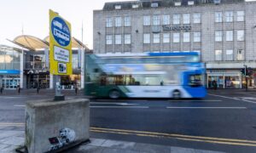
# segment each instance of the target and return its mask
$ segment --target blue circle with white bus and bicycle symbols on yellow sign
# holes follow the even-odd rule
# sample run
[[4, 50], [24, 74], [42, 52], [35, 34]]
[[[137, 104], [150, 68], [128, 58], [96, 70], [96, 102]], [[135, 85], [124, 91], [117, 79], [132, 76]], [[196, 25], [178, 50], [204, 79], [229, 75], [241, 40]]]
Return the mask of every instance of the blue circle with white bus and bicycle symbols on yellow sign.
[[51, 22], [51, 31], [55, 37], [55, 41], [61, 46], [66, 47], [70, 43], [70, 31], [64, 20], [55, 17]]

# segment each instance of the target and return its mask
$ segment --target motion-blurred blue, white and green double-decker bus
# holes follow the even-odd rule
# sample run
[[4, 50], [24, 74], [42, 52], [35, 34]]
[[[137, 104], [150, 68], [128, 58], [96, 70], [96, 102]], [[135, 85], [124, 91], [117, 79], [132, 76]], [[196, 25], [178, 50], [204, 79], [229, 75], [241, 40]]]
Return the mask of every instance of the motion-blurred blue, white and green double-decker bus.
[[200, 54], [86, 54], [85, 95], [119, 98], [204, 98]]

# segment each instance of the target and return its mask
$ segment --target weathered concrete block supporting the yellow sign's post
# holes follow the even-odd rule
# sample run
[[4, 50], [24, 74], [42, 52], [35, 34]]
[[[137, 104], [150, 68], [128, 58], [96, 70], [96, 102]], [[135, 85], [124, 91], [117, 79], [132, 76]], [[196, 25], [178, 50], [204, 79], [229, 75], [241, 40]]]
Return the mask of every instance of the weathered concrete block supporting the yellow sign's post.
[[26, 148], [29, 153], [61, 150], [88, 140], [89, 99], [34, 100], [26, 103]]

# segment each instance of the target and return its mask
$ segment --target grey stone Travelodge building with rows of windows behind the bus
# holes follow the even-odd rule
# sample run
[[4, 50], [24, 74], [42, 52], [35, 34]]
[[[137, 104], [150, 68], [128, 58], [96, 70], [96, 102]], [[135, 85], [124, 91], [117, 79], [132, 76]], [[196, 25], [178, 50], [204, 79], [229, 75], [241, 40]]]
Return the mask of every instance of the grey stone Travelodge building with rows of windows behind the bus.
[[[105, 3], [94, 11], [94, 53], [201, 53], [207, 87], [243, 88], [256, 68], [256, 2], [160, 0]], [[254, 40], [255, 39], [255, 40]], [[254, 87], [255, 74], [247, 85]]]

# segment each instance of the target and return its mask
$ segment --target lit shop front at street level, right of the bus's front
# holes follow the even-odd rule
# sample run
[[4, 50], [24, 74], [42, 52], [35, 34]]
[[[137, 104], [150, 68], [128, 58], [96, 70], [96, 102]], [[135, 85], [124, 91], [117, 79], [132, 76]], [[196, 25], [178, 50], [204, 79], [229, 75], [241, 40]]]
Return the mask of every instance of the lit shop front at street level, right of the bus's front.
[[240, 70], [207, 70], [207, 88], [241, 88]]

